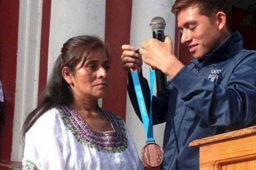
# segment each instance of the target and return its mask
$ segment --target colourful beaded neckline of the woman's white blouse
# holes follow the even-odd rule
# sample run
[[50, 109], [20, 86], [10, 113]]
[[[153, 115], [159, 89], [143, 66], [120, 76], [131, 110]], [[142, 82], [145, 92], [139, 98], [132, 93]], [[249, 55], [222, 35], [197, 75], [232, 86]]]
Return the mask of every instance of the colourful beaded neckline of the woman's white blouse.
[[128, 147], [125, 126], [122, 119], [113, 113], [101, 109], [112, 125], [112, 131], [92, 130], [83, 117], [71, 106], [59, 106], [65, 126], [82, 145], [95, 148], [104, 153], [120, 153]]

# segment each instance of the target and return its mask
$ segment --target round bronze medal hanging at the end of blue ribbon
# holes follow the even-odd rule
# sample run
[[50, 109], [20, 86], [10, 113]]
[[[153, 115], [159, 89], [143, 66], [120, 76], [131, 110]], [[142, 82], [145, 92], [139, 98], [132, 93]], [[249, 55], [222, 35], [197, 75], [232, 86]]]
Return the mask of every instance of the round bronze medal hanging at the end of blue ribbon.
[[142, 148], [141, 157], [143, 163], [149, 167], [159, 167], [163, 162], [163, 150], [156, 143], [148, 143]]

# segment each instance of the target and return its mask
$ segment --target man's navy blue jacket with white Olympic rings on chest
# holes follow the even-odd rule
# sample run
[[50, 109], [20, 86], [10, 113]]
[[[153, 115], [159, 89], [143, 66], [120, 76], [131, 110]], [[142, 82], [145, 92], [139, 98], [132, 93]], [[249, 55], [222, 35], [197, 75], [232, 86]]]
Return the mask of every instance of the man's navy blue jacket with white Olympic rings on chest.
[[[168, 91], [153, 97], [154, 124], [166, 122], [163, 169], [199, 169], [199, 149], [193, 140], [252, 126], [256, 118], [256, 51], [244, 50], [239, 32], [202, 60], [168, 82]], [[128, 94], [140, 116], [131, 76]], [[149, 110], [149, 86], [140, 75]]]

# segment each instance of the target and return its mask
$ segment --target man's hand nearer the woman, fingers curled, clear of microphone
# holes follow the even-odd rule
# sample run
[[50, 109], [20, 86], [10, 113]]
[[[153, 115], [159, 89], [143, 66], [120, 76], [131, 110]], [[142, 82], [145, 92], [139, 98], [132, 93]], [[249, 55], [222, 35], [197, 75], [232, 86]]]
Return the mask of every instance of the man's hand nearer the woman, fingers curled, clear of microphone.
[[137, 69], [137, 71], [140, 72], [142, 67], [142, 58], [139, 53], [134, 52], [134, 46], [122, 45], [122, 50], [122, 68], [128, 72], [130, 69]]

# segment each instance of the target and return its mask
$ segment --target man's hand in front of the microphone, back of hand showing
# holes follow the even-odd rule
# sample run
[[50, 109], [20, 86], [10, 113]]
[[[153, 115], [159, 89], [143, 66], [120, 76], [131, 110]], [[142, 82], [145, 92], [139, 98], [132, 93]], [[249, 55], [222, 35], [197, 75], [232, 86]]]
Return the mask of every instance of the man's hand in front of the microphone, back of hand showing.
[[166, 36], [164, 42], [154, 38], [142, 42], [140, 54], [146, 64], [159, 69], [170, 78], [173, 78], [184, 66], [174, 56], [173, 43], [169, 36]]

